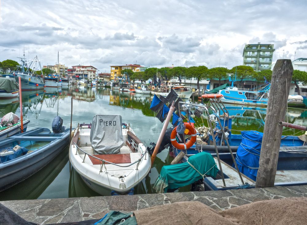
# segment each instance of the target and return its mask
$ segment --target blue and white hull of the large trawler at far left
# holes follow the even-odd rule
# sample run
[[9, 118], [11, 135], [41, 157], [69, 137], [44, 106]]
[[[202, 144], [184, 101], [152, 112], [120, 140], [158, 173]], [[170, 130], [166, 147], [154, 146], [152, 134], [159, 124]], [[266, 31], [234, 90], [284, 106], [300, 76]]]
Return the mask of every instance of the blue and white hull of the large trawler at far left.
[[[16, 83], [19, 84], [19, 76], [16, 74], [14, 75], [4, 75], [9, 76], [10, 78], [14, 78]], [[29, 75], [20, 75], [21, 77], [21, 90], [22, 91], [35, 91], [44, 89], [45, 83], [42, 81], [40, 77], [33, 77]]]

